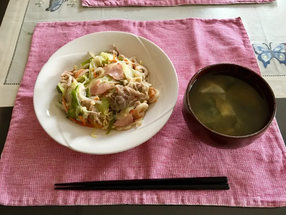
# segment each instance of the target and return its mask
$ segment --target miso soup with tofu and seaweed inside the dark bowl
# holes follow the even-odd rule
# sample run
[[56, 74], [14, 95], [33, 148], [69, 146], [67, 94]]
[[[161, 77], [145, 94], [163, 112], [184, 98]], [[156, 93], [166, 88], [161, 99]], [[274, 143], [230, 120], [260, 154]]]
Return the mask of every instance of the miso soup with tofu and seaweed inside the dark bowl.
[[235, 73], [212, 72], [199, 77], [189, 91], [189, 102], [200, 122], [224, 135], [253, 134], [269, 118], [262, 92]]

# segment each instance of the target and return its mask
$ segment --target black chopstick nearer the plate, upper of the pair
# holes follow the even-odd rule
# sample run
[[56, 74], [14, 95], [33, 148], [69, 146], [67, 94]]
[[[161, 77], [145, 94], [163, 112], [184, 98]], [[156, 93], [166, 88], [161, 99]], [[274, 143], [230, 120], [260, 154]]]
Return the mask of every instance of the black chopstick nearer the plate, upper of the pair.
[[121, 186], [121, 185], [192, 185], [192, 184], [223, 184], [227, 177], [198, 177], [198, 178], [164, 178], [164, 179], [135, 179], [115, 181], [90, 181], [58, 183], [55, 186]]

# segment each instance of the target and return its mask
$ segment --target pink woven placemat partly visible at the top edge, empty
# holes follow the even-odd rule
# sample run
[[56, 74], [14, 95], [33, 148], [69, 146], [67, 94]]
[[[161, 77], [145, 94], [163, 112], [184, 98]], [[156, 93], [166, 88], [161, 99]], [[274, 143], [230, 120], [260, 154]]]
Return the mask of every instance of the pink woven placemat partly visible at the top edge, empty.
[[183, 4], [270, 3], [277, 0], [81, 0], [87, 7], [175, 6]]

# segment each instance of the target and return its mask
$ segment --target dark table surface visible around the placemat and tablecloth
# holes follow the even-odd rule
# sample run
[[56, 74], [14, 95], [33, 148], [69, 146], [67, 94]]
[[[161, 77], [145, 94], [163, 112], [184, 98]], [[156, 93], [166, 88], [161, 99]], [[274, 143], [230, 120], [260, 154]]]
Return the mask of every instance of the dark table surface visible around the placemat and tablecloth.
[[[3, 19], [9, 0], [1, 0], [0, 23]], [[286, 98], [277, 99], [276, 120], [284, 142], [286, 140]], [[13, 107], [0, 108], [0, 153], [2, 153], [9, 130]], [[283, 208], [239, 208], [224, 206], [198, 205], [98, 205], [98, 206], [2, 206], [1, 214], [286, 214]]]

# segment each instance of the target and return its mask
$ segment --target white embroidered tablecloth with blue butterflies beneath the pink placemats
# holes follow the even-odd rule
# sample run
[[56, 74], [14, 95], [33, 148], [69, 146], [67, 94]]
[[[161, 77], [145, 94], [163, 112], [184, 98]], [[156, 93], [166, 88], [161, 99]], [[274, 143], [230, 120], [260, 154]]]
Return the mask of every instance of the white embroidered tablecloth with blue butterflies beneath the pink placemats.
[[[269, 4], [182, 5], [176, 7], [83, 7], [80, 0], [10, 0], [0, 27], [0, 107], [13, 106], [24, 73], [34, 27], [42, 21], [83, 21], [101, 19], [167, 20], [241, 17], [252, 44], [264, 52], [286, 43], [286, 1]], [[186, 29], [187, 30], [187, 29]], [[64, 35], [63, 35], [64, 36]], [[44, 42], [44, 41], [43, 41]], [[53, 44], [50, 44], [51, 46]], [[214, 44], [215, 45], [215, 44]], [[255, 46], [256, 47], [256, 46]], [[259, 50], [259, 47], [257, 48]], [[206, 55], [207, 56], [207, 55]], [[262, 76], [277, 98], [286, 97], [286, 61], [283, 53], [263, 64]]]

